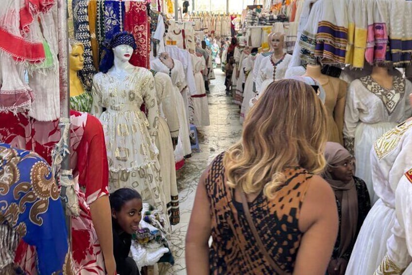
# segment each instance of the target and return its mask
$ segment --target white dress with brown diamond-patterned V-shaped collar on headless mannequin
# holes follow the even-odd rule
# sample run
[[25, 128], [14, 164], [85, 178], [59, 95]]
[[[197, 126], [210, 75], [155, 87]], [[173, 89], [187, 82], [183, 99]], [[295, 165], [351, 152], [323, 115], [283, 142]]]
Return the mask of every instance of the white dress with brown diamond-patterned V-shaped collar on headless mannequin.
[[365, 181], [372, 204], [378, 200], [372, 186], [372, 145], [383, 133], [411, 116], [411, 92], [411, 82], [396, 75], [391, 90], [381, 87], [370, 75], [354, 80], [349, 86], [343, 138], [345, 147], [356, 158], [356, 176]]

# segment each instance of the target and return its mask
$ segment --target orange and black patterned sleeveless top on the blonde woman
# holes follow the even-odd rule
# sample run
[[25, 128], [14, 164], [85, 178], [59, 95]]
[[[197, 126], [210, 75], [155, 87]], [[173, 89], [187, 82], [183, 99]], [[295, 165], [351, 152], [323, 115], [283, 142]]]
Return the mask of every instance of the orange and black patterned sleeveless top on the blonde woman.
[[[205, 180], [213, 238], [210, 274], [276, 274], [259, 252], [234, 189], [225, 184], [223, 155], [213, 161]], [[281, 270], [292, 273], [303, 234], [298, 227], [300, 209], [313, 175], [301, 167], [288, 168], [284, 174], [287, 180], [276, 197], [269, 200], [261, 192], [249, 202], [249, 209], [269, 255]]]

